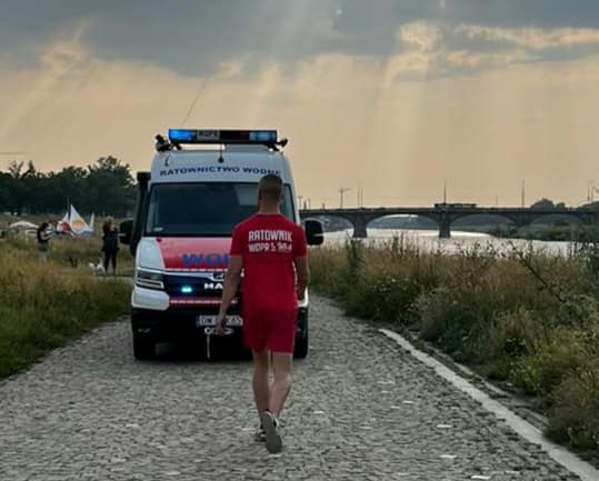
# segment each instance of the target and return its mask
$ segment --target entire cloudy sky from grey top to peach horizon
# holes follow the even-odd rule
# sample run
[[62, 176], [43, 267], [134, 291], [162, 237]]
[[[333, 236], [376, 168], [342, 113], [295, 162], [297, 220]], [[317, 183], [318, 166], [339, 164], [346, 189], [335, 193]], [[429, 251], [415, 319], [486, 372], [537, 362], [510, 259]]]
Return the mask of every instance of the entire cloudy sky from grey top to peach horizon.
[[430, 206], [446, 182], [519, 206], [522, 181], [578, 206], [597, 86], [597, 0], [0, 2], [0, 168], [148, 170], [169, 128], [276, 128], [312, 207]]

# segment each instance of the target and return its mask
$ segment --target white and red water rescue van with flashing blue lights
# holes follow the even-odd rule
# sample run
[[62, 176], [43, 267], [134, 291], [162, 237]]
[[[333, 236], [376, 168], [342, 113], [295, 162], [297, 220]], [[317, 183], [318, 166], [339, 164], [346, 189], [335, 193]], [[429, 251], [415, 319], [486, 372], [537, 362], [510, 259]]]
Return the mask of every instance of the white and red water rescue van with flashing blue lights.
[[[158, 342], [192, 340], [210, 358], [233, 228], [257, 211], [258, 182], [267, 173], [284, 184], [281, 212], [300, 223], [287, 140], [274, 130], [171, 129], [157, 136], [150, 172], [138, 173], [134, 219], [121, 224], [121, 242], [136, 257], [131, 295], [133, 353], [151, 359]], [[196, 146], [186, 148], [183, 146]], [[322, 227], [305, 224], [309, 244]], [[242, 347], [242, 318], [233, 301], [224, 342]], [[296, 351], [308, 353], [308, 294], [300, 302]], [[223, 340], [219, 339], [219, 344]]]

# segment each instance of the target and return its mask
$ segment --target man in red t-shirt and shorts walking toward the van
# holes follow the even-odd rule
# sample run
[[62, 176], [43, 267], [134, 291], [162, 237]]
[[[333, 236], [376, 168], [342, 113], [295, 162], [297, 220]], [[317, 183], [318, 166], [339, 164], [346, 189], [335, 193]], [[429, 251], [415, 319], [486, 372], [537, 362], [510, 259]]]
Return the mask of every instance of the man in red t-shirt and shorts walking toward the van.
[[[258, 213], [236, 227], [224, 280], [217, 330], [227, 325], [226, 313], [243, 270], [243, 340], [253, 355], [253, 397], [260, 414], [259, 437], [269, 452], [282, 449], [279, 415], [291, 389], [291, 364], [298, 300], [308, 285], [308, 257], [303, 229], [281, 214], [283, 184], [264, 176], [258, 187]], [[269, 385], [269, 360], [274, 381]]]

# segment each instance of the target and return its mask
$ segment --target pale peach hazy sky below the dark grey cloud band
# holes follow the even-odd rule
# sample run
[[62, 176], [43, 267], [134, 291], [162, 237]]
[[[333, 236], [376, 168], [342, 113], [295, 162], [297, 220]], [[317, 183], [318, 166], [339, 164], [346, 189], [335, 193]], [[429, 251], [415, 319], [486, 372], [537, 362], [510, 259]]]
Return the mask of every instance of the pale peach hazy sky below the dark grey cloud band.
[[[583, 194], [599, 148], [596, 58], [535, 63], [509, 58], [530, 54], [513, 46], [448, 47], [452, 29], [440, 23], [402, 27], [386, 59], [323, 54], [298, 60], [292, 76], [277, 62], [248, 76], [248, 59], [232, 57], [208, 78], [99, 58], [80, 27], [38, 52], [40, 68], [0, 67], [2, 120], [12, 119], [0, 141], [42, 170], [109, 153], [146, 170], [153, 134], [180, 126], [201, 88], [187, 126], [278, 128], [312, 204], [358, 182], [372, 206], [432, 204], [446, 178], [456, 201], [517, 203], [522, 178], [535, 197]], [[396, 81], [439, 71], [479, 73]]]

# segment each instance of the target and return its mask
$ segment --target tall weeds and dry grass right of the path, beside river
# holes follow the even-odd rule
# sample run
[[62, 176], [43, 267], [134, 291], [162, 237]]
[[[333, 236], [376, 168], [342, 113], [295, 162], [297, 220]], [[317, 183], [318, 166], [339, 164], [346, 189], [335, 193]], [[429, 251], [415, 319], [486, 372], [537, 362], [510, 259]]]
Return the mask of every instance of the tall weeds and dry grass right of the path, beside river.
[[448, 254], [396, 238], [315, 249], [311, 269], [315, 288], [349, 314], [417, 331], [533, 397], [551, 439], [599, 451], [599, 255], [572, 252], [475, 245]]

